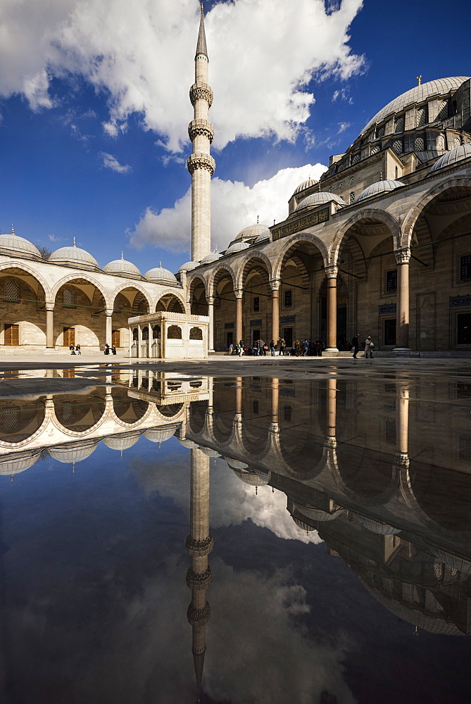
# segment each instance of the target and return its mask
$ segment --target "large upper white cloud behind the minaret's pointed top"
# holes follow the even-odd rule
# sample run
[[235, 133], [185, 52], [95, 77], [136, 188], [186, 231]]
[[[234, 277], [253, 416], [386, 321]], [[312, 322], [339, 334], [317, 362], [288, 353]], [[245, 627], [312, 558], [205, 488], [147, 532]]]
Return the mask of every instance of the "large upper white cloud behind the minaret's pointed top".
[[[206, 18], [215, 147], [239, 136], [295, 139], [314, 102], [310, 80], [346, 80], [363, 65], [348, 46], [362, 4], [215, 4]], [[196, 0], [4, 0], [0, 94], [23, 94], [33, 110], [51, 108], [52, 78], [79, 75], [107, 96], [108, 135], [117, 137], [139, 113], [145, 130], [180, 151], [191, 118], [198, 11]]]

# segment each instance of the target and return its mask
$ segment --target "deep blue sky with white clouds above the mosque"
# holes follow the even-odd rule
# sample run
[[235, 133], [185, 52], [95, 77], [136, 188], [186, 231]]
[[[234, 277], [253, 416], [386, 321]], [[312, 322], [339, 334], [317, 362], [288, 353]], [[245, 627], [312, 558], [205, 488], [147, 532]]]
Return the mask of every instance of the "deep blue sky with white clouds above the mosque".
[[[471, 75], [469, 0], [207, 0], [212, 246], [287, 201], [397, 95]], [[189, 260], [197, 0], [0, 1], [0, 232], [142, 273]]]

